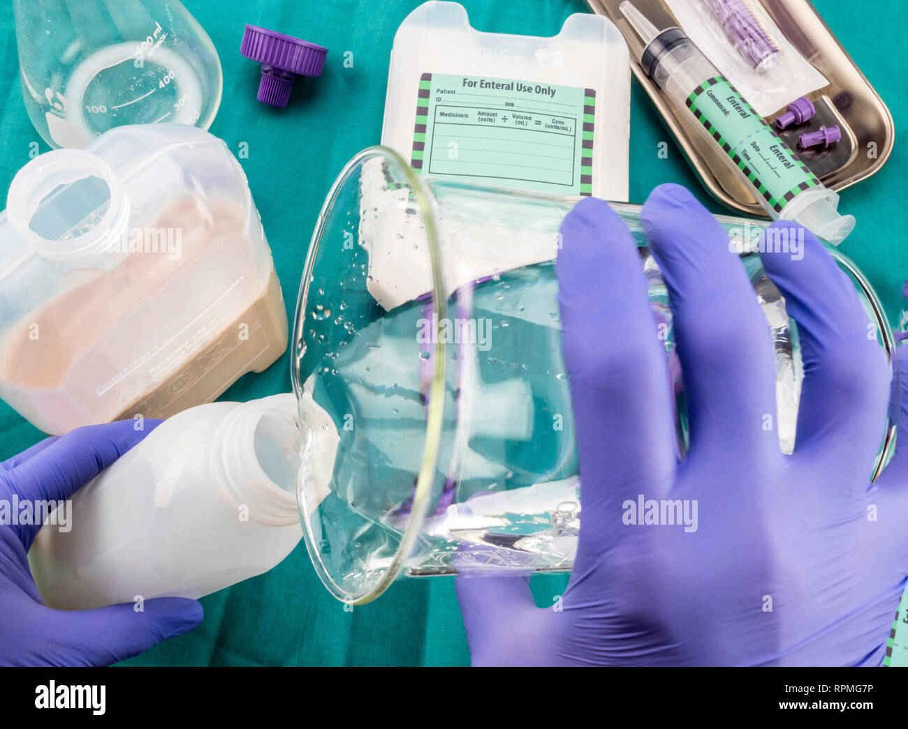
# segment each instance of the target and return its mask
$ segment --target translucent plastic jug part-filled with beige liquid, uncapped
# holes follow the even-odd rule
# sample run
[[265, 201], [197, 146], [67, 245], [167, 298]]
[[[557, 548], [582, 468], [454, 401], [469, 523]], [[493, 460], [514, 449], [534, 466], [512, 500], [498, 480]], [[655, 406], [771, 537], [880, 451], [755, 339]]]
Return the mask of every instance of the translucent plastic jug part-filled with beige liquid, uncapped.
[[15, 176], [0, 214], [0, 397], [38, 428], [211, 402], [287, 335], [246, 177], [208, 132], [118, 127]]

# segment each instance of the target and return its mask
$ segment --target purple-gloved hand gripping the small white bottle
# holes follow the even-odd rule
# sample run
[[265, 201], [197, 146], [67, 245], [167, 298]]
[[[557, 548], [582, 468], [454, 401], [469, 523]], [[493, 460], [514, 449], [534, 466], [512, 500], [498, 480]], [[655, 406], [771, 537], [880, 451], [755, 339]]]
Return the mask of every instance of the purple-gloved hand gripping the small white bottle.
[[[122, 421], [47, 438], [0, 462], [0, 501], [65, 501], [157, 424], [145, 420], [136, 431], [133, 421]], [[78, 521], [77, 513], [71, 517]], [[25, 558], [40, 527], [13, 521], [0, 523], [0, 666], [106, 666], [202, 622], [202, 606], [183, 598], [147, 600], [143, 612], [132, 604], [44, 607]]]

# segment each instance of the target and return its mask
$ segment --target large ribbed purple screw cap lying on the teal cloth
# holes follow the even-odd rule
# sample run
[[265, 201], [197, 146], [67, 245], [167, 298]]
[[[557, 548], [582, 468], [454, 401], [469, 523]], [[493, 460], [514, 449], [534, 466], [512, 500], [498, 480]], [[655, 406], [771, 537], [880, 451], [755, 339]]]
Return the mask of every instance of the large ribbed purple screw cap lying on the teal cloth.
[[256, 98], [283, 109], [290, 101], [297, 76], [321, 76], [328, 49], [247, 23], [240, 53], [262, 63], [262, 82]]

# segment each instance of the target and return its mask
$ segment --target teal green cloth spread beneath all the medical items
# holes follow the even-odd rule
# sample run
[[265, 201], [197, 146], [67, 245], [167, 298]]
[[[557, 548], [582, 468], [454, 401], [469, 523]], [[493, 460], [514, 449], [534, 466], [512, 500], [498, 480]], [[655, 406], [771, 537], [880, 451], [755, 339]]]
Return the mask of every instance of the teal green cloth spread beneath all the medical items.
[[[343, 164], [380, 141], [388, 63], [394, 32], [418, 0], [185, 0], [221, 54], [224, 92], [211, 131], [240, 160], [271, 243], [275, 266], [292, 317], [311, 229], [321, 202]], [[552, 35], [571, 13], [587, 11], [581, 0], [491, 2], [461, 0], [471, 24], [496, 33]], [[908, 114], [903, 73], [893, 61], [908, 26], [908, 5], [817, 0], [825, 22], [888, 103], [896, 129]], [[240, 55], [243, 24], [296, 35], [329, 50], [321, 78], [296, 83], [285, 110], [255, 100], [259, 65]], [[35, 132], [22, 102], [11, 4], [0, 6], [0, 190], [29, 159]], [[668, 141], [668, 156], [659, 142]], [[643, 202], [661, 182], [694, 190], [714, 212], [711, 199], [677, 149], [646, 94], [632, 82], [630, 200]], [[893, 325], [903, 308], [908, 247], [903, 244], [908, 200], [901, 175], [908, 173], [903, 146], [878, 174], [845, 190], [842, 209], [857, 228], [842, 250], [857, 262], [883, 298]], [[0, 204], [0, 207], [2, 204]], [[247, 374], [222, 397], [245, 401], [290, 389], [290, 360], [262, 374]], [[43, 437], [0, 403], [0, 460]], [[539, 605], [552, 605], [565, 577], [534, 579]], [[202, 599], [202, 626], [157, 646], [129, 666], [378, 666], [465, 665], [466, 637], [448, 578], [399, 580], [376, 602], [348, 612], [322, 588], [303, 545], [266, 575]], [[884, 637], [881, 639], [885, 639]]]

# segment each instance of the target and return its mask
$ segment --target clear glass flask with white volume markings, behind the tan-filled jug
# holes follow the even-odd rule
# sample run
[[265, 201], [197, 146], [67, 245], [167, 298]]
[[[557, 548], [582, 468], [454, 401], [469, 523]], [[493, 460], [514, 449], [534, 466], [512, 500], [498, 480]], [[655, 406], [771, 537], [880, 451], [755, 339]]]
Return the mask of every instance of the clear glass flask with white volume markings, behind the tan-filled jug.
[[123, 124], [208, 129], [221, 61], [179, 0], [14, 0], [25, 108], [52, 147]]

